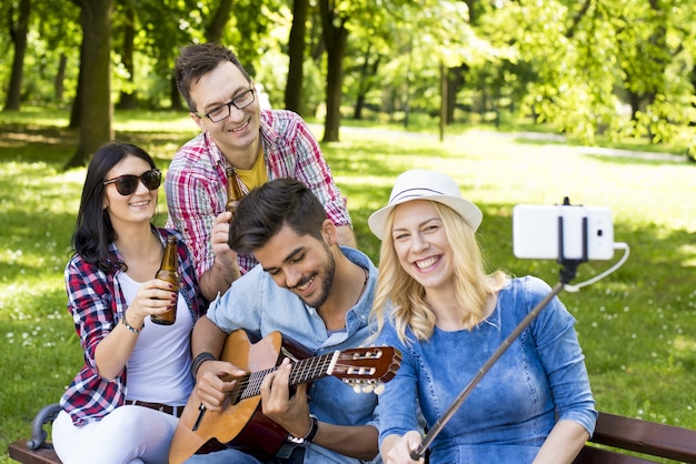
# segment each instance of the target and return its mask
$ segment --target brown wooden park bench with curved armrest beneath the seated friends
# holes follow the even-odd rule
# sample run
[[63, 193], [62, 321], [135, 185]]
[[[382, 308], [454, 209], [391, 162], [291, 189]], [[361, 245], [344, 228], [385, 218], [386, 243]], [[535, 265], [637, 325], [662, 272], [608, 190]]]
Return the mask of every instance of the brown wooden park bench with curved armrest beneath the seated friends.
[[[47, 441], [44, 430], [59, 412], [58, 404], [39, 411], [31, 424], [31, 438], [10, 444], [10, 457], [24, 464], [61, 464]], [[598, 447], [596, 444], [605, 446]], [[696, 431], [599, 413], [595, 434], [574, 464], [654, 463], [649, 461], [650, 456], [696, 463]]]

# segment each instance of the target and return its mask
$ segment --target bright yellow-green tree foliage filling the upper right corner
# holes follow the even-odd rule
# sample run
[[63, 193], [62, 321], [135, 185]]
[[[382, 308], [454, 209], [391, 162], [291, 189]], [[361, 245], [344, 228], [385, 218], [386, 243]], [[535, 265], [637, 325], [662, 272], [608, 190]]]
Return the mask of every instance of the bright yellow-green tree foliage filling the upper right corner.
[[593, 143], [668, 141], [694, 120], [695, 14], [687, 0], [518, 0], [495, 16], [519, 51], [524, 108]]

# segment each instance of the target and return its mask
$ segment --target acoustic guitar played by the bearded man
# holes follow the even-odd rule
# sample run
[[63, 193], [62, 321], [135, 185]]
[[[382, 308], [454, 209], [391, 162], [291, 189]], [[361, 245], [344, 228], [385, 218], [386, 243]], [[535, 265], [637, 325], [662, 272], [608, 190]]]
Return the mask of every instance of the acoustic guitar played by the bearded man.
[[[169, 448], [169, 463], [180, 464], [211, 443], [229, 443], [260, 458], [275, 455], [286, 443], [288, 432], [261, 413], [261, 382], [290, 357], [290, 385], [335, 376], [350, 384], [356, 392], [381, 391], [382, 383], [396, 375], [401, 353], [392, 346], [358, 347], [307, 357], [307, 350], [279, 332], [252, 343], [247, 332], [228, 335], [220, 360], [229, 361], [248, 372], [236, 380], [222, 411], [202, 407], [196, 391], [183, 408]], [[304, 359], [302, 359], [304, 357]]]

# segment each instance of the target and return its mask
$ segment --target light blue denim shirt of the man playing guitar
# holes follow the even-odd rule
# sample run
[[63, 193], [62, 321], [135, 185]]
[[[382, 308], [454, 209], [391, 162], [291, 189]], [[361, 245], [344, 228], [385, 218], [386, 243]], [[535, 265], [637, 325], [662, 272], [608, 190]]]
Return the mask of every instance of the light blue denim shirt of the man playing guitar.
[[[317, 310], [306, 305], [289, 290], [278, 286], [261, 265], [232, 283], [232, 286], [216, 299], [208, 310], [208, 319], [225, 332], [245, 329], [252, 335], [264, 337], [279, 331], [284, 336], [304, 345], [314, 355], [331, 353], [360, 346], [374, 332], [368, 326], [377, 268], [364, 253], [341, 248], [354, 263], [369, 271], [369, 279], [358, 303], [346, 315], [346, 331], [329, 334]], [[374, 425], [379, 428], [375, 412], [377, 396], [374, 393], [356, 393], [341, 380], [328, 376], [314, 381], [309, 393], [309, 411], [321, 422], [338, 425]], [[305, 451], [306, 464], [311, 463], [359, 463], [311, 444]], [[379, 462], [378, 458], [375, 462]]]

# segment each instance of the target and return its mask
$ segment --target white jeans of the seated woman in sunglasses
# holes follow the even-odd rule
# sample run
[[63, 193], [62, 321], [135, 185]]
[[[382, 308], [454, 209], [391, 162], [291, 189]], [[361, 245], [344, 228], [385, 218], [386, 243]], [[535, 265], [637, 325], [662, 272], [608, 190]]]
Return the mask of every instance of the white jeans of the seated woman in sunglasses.
[[170, 414], [126, 405], [99, 422], [78, 427], [61, 411], [51, 437], [63, 464], [167, 464], [178, 422]]

